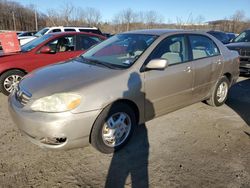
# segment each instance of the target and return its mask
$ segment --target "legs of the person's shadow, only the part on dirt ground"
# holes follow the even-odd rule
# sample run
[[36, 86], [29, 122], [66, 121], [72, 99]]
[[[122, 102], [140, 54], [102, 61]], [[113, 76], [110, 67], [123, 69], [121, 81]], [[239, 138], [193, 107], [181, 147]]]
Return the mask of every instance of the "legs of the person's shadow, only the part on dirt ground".
[[[149, 142], [145, 124], [139, 125], [128, 145], [114, 153], [105, 188], [148, 187]], [[130, 177], [129, 177], [130, 176]]]

